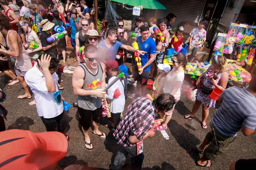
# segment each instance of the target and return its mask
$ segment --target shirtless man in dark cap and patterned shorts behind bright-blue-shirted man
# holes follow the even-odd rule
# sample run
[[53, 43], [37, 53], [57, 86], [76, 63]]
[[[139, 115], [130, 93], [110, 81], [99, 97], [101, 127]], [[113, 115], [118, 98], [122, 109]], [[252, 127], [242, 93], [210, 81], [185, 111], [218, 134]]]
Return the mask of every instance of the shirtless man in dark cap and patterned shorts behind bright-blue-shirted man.
[[[156, 51], [155, 63], [157, 63], [157, 64], [162, 64], [162, 63], [163, 63], [164, 51], [165, 51], [165, 48], [168, 47], [168, 45], [169, 45], [170, 34], [169, 34], [169, 32], [166, 30], [166, 25], [167, 25], [167, 20], [166, 20], [166, 19], [162, 19], [162, 20], [160, 21], [160, 24], [159, 24], [159, 29], [160, 29], [160, 31], [161, 31], [162, 34], [163, 34], [164, 41], [163, 41], [163, 42], [162, 42], [162, 41], [159, 41], [159, 40], [157, 40], [157, 37], [155, 37], [155, 38], [156, 38], [156, 44], [157, 44], [157, 51]], [[149, 76], [149, 78], [153, 78], [154, 67], [155, 67], [155, 64], [152, 63], [152, 64], [151, 64], [151, 69], [150, 69], [150, 76]]]

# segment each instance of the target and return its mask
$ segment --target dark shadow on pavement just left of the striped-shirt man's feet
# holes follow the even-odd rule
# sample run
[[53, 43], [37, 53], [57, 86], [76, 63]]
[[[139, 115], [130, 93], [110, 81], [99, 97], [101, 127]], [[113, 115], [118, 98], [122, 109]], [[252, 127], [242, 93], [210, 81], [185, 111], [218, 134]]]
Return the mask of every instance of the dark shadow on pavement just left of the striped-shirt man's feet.
[[168, 123], [168, 127], [177, 143], [186, 150], [192, 159], [198, 160], [200, 157], [195, 151], [195, 147], [200, 144], [200, 140], [173, 119]]

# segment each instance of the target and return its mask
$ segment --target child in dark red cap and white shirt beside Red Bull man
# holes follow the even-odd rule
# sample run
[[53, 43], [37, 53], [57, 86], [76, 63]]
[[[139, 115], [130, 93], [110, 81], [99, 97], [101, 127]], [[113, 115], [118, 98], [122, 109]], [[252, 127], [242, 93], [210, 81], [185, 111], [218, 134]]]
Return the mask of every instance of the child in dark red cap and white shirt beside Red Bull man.
[[[111, 83], [119, 73], [121, 73], [118, 67], [118, 63], [114, 59], [111, 59], [106, 63], [106, 69], [108, 74], [111, 75], [111, 78], [108, 80], [108, 84]], [[108, 89], [108, 94], [106, 96], [106, 99], [111, 100], [111, 117], [109, 118], [109, 121], [111, 122], [111, 126], [114, 128], [116, 128], [121, 121], [120, 115], [125, 108], [124, 84], [125, 82], [123, 78], [119, 79]]]

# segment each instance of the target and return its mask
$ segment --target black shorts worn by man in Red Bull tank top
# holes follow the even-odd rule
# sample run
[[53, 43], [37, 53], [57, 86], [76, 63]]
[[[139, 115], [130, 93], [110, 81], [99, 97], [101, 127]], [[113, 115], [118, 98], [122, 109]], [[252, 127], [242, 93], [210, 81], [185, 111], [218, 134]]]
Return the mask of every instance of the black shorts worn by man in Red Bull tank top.
[[85, 110], [78, 107], [79, 124], [88, 130], [90, 128], [92, 120], [96, 123], [100, 123], [100, 115], [102, 114], [102, 106], [95, 111]]

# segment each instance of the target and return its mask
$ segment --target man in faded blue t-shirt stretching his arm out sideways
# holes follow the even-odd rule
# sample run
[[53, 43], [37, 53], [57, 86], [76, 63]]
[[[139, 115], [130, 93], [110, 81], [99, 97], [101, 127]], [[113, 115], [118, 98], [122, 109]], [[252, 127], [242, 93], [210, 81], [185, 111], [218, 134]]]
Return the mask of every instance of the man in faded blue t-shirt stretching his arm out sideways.
[[119, 48], [122, 48], [127, 51], [136, 51], [140, 53], [141, 56], [146, 54], [145, 51], [137, 50], [129, 45], [124, 45], [121, 42], [116, 41], [117, 39], [116, 37], [117, 37], [117, 30], [114, 28], [109, 28], [107, 31], [106, 40], [99, 42], [99, 51], [102, 52], [102, 56], [105, 56], [105, 58], [102, 59], [103, 61], [105, 60], [106, 62], [108, 62], [111, 59], [116, 60], [116, 57], [120, 58], [120, 56], [117, 55], [117, 51]]

